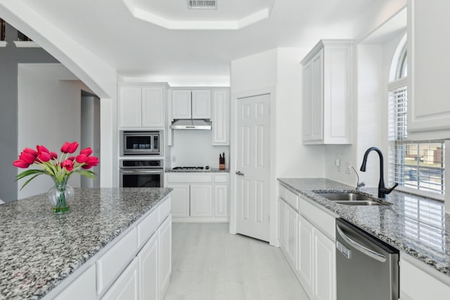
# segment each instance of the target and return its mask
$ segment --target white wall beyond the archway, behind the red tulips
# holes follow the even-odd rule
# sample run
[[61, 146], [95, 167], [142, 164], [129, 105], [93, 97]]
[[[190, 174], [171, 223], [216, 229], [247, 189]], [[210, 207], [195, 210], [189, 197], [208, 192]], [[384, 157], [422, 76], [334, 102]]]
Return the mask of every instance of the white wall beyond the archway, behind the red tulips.
[[[44, 145], [59, 155], [65, 141], [80, 141], [81, 90], [90, 90], [73, 79], [76, 77], [60, 64], [18, 65], [19, 151]], [[79, 187], [79, 174], [71, 176], [69, 184]], [[18, 199], [46, 193], [52, 185], [49, 176], [38, 176], [18, 192]]]

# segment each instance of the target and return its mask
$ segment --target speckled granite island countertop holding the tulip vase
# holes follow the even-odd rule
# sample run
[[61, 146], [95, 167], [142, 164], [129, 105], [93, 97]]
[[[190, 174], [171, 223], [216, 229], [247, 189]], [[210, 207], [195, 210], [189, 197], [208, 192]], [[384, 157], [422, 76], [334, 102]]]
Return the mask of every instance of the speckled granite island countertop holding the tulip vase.
[[46, 194], [0, 205], [0, 299], [40, 299], [172, 188], [75, 188], [68, 214]]

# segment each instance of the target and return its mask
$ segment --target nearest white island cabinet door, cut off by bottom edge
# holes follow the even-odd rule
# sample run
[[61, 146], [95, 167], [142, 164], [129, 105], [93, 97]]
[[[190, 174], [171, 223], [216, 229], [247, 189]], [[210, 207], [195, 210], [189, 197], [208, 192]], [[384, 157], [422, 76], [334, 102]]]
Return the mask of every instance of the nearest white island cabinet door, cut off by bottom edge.
[[139, 289], [138, 289], [138, 259], [135, 258], [127, 266], [119, 278], [113, 283], [113, 285], [108, 289], [103, 300], [133, 300], [139, 299]]

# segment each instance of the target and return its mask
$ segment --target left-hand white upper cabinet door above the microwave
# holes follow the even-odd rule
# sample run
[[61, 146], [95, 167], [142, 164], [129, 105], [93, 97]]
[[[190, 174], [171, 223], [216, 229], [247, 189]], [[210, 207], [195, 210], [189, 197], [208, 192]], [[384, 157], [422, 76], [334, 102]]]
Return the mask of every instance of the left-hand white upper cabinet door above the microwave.
[[119, 88], [119, 126], [141, 126], [141, 87], [120, 86]]

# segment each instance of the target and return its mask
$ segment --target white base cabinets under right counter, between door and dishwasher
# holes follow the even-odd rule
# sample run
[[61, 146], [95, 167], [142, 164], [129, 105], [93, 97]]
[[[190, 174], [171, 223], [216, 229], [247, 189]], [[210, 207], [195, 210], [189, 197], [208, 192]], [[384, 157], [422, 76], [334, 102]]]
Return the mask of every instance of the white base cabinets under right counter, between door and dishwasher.
[[297, 211], [297, 202], [285, 202], [293, 192], [281, 185], [280, 192], [278, 240], [283, 254], [310, 299], [336, 299], [334, 216], [301, 197]]

